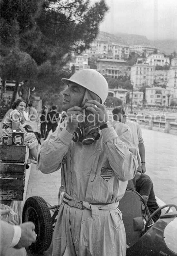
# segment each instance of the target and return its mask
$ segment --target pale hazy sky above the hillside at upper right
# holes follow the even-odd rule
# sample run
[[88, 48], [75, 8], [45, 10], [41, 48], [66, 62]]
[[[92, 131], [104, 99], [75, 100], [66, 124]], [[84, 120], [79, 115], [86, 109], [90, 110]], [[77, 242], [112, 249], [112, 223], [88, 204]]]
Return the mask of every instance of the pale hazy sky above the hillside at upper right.
[[145, 35], [149, 40], [177, 39], [177, 0], [105, 1], [109, 12], [101, 31]]

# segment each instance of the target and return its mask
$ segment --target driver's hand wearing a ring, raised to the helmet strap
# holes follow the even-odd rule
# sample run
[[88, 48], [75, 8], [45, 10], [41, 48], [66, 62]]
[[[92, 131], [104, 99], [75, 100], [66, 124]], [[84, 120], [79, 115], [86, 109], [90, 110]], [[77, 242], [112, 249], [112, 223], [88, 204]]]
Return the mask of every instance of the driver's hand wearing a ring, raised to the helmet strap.
[[95, 122], [98, 123], [98, 125], [103, 125], [107, 122], [107, 110], [105, 105], [99, 103], [96, 100], [88, 100], [84, 104], [84, 109], [88, 112], [91, 112], [95, 117]]

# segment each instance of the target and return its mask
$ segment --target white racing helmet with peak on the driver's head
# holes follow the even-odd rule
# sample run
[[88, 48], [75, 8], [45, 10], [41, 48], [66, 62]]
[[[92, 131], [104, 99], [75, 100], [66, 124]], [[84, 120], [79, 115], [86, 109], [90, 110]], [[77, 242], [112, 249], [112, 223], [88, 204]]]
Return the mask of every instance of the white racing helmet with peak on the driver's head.
[[104, 76], [94, 69], [82, 69], [74, 73], [70, 79], [61, 79], [65, 84], [77, 83], [84, 88], [94, 92], [104, 103], [108, 95], [108, 84]]

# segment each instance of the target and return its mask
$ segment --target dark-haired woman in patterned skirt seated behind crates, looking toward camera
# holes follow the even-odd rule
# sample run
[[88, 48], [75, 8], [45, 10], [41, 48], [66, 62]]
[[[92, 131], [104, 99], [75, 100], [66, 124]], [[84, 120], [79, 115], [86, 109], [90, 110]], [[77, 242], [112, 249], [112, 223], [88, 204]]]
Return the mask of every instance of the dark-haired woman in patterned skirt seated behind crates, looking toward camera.
[[[9, 137], [9, 143], [12, 144], [12, 131], [24, 132], [24, 145], [28, 146], [30, 158], [37, 160], [38, 141], [34, 133], [27, 133], [22, 126], [23, 123], [23, 111], [25, 110], [27, 103], [19, 99], [14, 102], [12, 111], [5, 117], [3, 121], [2, 135]], [[30, 163], [30, 161], [28, 161]]]

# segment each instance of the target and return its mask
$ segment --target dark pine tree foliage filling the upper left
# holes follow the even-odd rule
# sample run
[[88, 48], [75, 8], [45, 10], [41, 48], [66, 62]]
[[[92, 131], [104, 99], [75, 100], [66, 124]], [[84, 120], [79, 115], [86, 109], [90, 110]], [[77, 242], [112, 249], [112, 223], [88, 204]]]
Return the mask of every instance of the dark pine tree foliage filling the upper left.
[[61, 77], [72, 73], [63, 70], [71, 53], [89, 47], [107, 11], [105, 0], [1, 0], [0, 75], [17, 81], [30, 76], [43, 99], [60, 92]]

